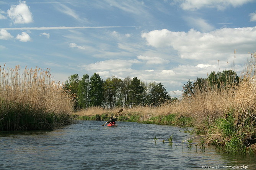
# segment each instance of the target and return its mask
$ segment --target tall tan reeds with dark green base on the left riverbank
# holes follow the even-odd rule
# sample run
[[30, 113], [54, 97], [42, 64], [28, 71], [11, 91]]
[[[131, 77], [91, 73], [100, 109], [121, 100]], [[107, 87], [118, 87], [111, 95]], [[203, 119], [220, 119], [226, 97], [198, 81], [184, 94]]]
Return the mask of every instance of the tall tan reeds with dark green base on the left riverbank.
[[51, 129], [71, 122], [72, 100], [49, 70], [0, 67], [0, 130]]

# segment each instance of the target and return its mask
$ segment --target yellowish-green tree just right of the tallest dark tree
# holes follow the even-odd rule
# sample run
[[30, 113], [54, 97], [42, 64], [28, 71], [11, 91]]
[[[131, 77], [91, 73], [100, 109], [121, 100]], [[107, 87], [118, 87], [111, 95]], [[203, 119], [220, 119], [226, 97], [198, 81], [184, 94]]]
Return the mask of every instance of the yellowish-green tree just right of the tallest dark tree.
[[113, 108], [117, 105], [117, 100], [120, 96], [121, 79], [116, 77], [109, 77], [104, 82], [104, 99], [109, 108]]

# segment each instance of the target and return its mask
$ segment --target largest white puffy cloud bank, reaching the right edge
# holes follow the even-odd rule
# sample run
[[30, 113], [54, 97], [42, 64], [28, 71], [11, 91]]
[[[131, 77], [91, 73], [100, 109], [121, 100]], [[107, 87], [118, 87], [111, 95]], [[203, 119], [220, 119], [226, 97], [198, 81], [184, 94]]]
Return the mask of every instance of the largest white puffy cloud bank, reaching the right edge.
[[227, 54], [235, 49], [254, 49], [256, 46], [256, 27], [223, 28], [209, 33], [194, 29], [188, 32], [162, 29], [142, 33], [141, 36], [150, 46], [172, 47], [181, 58], [197, 60], [226, 59]]

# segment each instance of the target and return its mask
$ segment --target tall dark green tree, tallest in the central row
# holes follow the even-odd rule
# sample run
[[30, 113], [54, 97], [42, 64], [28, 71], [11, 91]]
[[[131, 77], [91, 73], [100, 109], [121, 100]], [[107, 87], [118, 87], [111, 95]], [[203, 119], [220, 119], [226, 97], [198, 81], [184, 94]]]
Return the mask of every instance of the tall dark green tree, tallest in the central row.
[[101, 106], [103, 103], [103, 80], [94, 73], [90, 78], [90, 106]]

